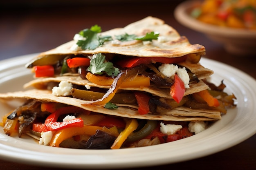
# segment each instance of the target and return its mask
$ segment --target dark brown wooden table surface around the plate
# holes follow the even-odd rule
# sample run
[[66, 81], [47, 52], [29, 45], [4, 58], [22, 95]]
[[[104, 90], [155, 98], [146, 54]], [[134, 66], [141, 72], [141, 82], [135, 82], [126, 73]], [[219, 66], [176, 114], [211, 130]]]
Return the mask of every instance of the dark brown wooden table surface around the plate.
[[[48, 3], [45, 6], [36, 3], [33, 5], [25, 4], [24, 6], [24, 4], [17, 4], [17, 2], [10, 6], [3, 5], [0, 7], [0, 60], [53, 49], [72, 40], [75, 33], [90, 28], [94, 24], [98, 24], [103, 31], [107, 31], [115, 27], [126, 26], [131, 22], [152, 15], [165, 20], [180, 35], [185, 35], [191, 44], [204, 45], [207, 50], [207, 55], [204, 57], [234, 66], [251, 75], [254, 79], [256, 78], [255, 55], [237, 56], [229, 54], [221, 44], [212, 42], [205, 35], [192, 31], [175, 20], [173, 10], [181, 1], [159, 0], [147, 2], [142, 0], [142, 3], [137, 1], [130, 1], [132, 3], [104, 3], [99, 1], [101, 3], [97, 3], [96, 1], [92, 4], [83, 2], [80, 5], [76, 5], [76, 1], [72, 2], [74, 3], [55, 5]], [[45, 167], [15, 163], [12, 160], [0, 160], [0, 169], [45, 170]], [[146, 170], [148, 167], [133, 169]], [[150, 167], [150, 169], [255, 170], [256, 135], [213, 155], [185, 162]]]

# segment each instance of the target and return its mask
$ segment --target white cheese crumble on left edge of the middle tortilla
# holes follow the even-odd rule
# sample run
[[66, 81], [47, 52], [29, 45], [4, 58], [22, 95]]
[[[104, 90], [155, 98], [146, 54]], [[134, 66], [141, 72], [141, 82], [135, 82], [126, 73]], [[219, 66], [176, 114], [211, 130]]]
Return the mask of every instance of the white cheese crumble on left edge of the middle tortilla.
[[69, 83], [67, 81], [61, 81], [58, 84], [58, 87], [55, 86], [52, 88], [52, 94], [56, 96], [67, 96], [70, 95], [70, 91], [72, 88], [72, 83]]

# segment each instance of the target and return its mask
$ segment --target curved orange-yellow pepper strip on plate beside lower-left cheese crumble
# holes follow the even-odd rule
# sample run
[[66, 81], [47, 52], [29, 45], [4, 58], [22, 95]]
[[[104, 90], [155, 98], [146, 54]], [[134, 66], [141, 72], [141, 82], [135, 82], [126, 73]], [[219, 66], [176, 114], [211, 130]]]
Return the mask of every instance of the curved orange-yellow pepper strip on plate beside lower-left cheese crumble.
[[71, 127], [65, 128], [62, 130], [58, 130], [54, 133], [52, 140], [50, 141], [49, 146], [59, 147], [60, 143], [65, 139], [69, 139], [73, 136], [77, 135], [94, 135], [96, 130], [102, 130], [102, 127], [99, 126], [91, 126], [91, 125], [84, 125], [82, 127]]

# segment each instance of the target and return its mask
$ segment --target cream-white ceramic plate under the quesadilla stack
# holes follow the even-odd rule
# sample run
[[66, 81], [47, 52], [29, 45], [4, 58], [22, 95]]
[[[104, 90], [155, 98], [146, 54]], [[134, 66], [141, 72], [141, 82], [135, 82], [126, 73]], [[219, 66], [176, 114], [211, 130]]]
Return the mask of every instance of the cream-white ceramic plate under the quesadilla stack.
[[[22, 90], [33, 76], [25, 68], [31, 57], [24, 55], [0, 61], [0, 93]], [[227, 85], [237, 97], [237, 108], [228, 110], [220, 121], [192, 137], [167, 144], [119, 150], [79, 150], [37, 144], [31, 138], [9, 137], [0, 128], [0, 159], [58, 168], [133, 168], [176, 163], [211, 155], [248, 139], [256, 132], [256, 81], [249, 75], [220, 62], [202, 58], [203, 66], [215, 71], [212, 82]], [[0, 103], [0, 116], [9, 107]]]

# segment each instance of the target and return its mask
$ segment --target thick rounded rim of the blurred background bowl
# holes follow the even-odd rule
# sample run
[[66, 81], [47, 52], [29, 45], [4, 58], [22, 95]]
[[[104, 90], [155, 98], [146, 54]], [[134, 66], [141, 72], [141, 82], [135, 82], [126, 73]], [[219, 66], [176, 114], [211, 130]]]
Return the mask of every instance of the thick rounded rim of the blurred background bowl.
[[208, 35], [222, 35], [224, 37], [234, 37], [234, 38], [256, 38], [256, 31], [251, 31], [247, 29], [235, 29], [220, 27], [212, 24], [207, 24], [192, 18], [187, 11], [193, 8], [195, 2], [202, 2], [202, 0], [187, 0], [179, 5], [174, 10], [175, 19], [183, 24], [184, 26], [194, 29], [196, 31], [206, 33]]

